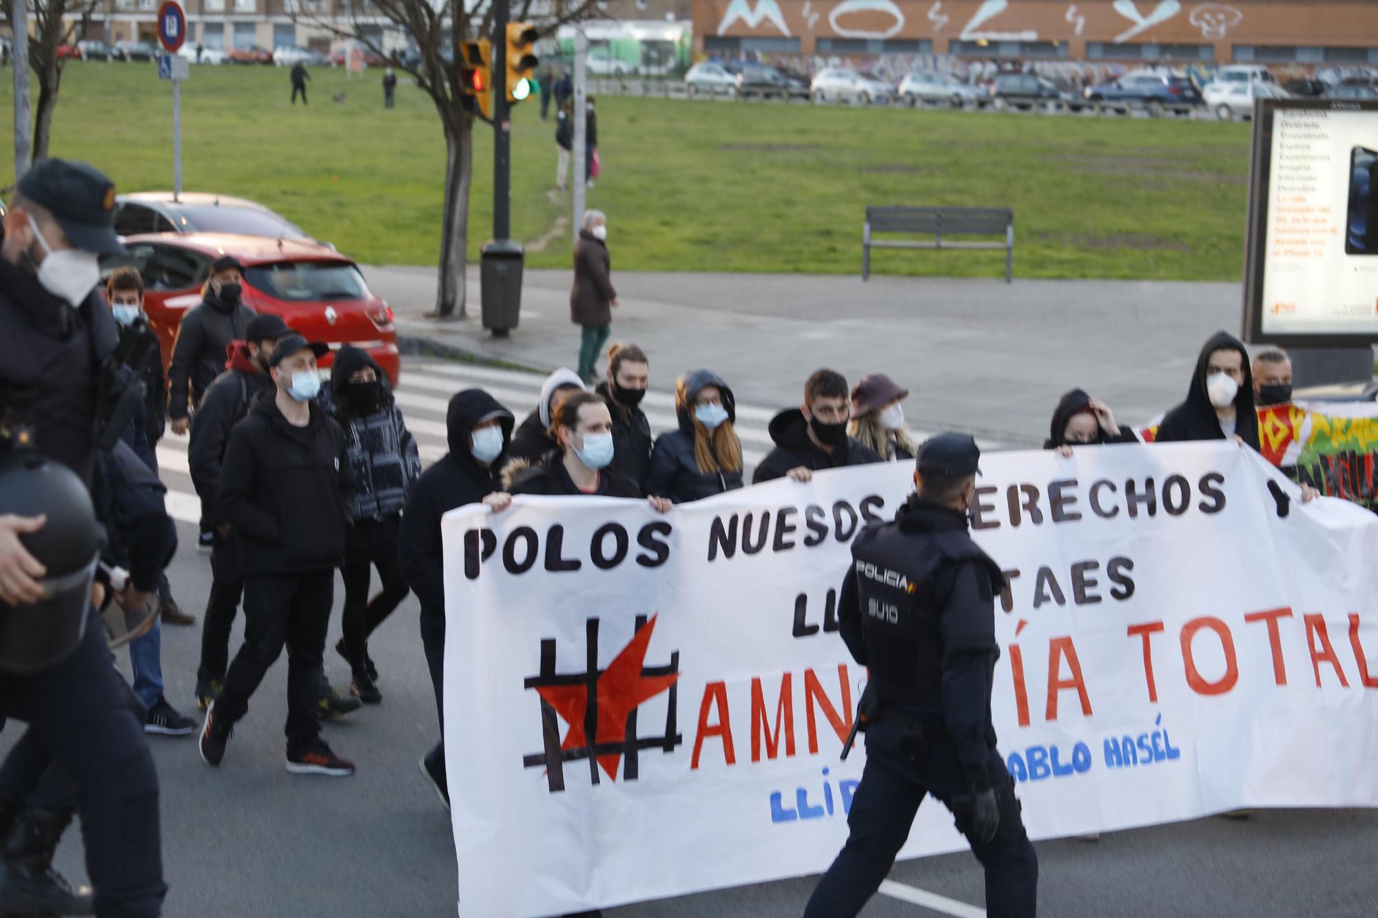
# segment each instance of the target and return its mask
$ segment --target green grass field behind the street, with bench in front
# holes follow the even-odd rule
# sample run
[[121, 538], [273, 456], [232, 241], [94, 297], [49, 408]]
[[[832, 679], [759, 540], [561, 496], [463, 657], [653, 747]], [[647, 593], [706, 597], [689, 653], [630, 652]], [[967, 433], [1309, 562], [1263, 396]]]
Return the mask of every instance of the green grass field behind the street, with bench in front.
[[[379, 73], [314, 70], [309, 109], [278, 68], [192, 68], [182, 94], [185, 185], [281, 211], [364, 263], [434, 265], [444, 139], [429, 96]], [[344, 92], [343, 105], [331, 96]], [[0, 77], [0, 102], [11, 103]], [[1237, 280], [1248, 125], [598, 101], [619, 270], [860, 272], [867, 204], [1013, 207], [1016, 276]], [[169, 189], [171, 90], [152, 65], [74, 62], [52, 154], [90, 160], [120, 190]], [[491, 128], [475, 127], [470, 252], [491, 234]], [[12, 175], [12, 145], [0, 171]], [[540, 238], [569, 207], [553, 194], [554, 120], [513, 123], [513, 230]], [[531, 254], [568, 266], [568, 237]], [[879, 273], [995, 276], [1003, 254], [879, 252]]]

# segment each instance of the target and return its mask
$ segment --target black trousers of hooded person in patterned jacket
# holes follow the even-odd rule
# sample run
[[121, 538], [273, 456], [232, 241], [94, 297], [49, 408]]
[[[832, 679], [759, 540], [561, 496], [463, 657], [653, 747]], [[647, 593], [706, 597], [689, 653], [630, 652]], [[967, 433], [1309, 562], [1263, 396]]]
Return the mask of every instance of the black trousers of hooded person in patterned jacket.
[[[402, 562], [397, 554], [397, 533], [401, 517], [393, 514], [386, 520], [360, 520], [350, 527], [349, 547], [340, 573], [344, 579], [344, 649], [349, 651], [350, 666], [364, 669], [364, 653], [368, 649], [368, 635], [397, 609], [411, 593], [407, 578], [402, 576]], [[368, 598], [368, 582], [372, 568], [378, 568], [382, 590]]]

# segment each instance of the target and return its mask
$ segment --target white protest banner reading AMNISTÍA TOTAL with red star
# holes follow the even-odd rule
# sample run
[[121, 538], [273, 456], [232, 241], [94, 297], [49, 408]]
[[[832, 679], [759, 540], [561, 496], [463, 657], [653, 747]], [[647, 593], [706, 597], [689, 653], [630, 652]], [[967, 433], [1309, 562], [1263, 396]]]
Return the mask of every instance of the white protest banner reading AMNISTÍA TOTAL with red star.
[[[1000, 753], [1034, 838], [1378, 805], [1378, 517], [1233, 444], [983, 458]], [[846, 839], [865, 673], [849, 543], [907, 465], [677, 507], [446, 514], [459, 908], [558, 915], [817, 873]], [[956, 850], [929, 801], [901, 856]]]

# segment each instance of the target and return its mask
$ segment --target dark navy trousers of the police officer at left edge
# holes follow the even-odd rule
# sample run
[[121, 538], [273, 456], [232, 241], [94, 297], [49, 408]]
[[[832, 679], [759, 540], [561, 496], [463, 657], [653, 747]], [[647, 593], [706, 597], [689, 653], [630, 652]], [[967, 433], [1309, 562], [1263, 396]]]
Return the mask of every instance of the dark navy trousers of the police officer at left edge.
[[[77, 788], [96, 914], [158, 915], [167, 895], [158, 776], [143, 735], [142, 706], [114, 669], [95, 611], [72, 656], [36, 675], [0, 678], [0, 697], [11, 717], [29, 724], [15, 747], [28, 757], [25, 768], [36, 768], [37, 755], [47, 753], [61, 769], [55, 779], [48, 777], [51, 768], [43, 772], [40, 788], [63, 779]], [[59, 793], [61, 783], [51, 790]]]

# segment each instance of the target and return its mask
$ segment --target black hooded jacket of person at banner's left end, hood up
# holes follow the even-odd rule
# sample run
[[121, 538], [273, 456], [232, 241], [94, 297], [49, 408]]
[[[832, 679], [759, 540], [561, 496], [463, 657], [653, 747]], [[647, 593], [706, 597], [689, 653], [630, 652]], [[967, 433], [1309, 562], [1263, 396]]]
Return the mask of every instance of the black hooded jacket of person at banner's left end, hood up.
[[422, 604], [422, 615], [445, 615], [445, 560], [441, 551], [440, 518], [455, 507], [477, 503], [502, 491], [497, 470], [507, 456], [499, 455], [485, 469], [474, 459], [470, 433], [474, 425], [497, 418], [503, 442], [511, 444], [513, 415], [482, 389], [466, 389], [449, 400], [445, 415], [449, 452], [422, 473], [407, 496], [397, 546], [402, 575]]

